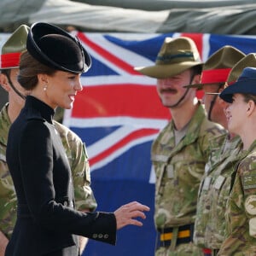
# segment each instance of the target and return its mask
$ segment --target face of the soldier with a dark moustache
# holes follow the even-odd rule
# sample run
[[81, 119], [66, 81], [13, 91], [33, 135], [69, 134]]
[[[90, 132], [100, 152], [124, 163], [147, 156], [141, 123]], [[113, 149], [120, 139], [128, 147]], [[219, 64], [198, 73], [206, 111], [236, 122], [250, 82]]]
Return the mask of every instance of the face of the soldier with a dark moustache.
[[[162, 104], [167, 108], [172, 108], [185, 94], [186, 88], [183, 86], [190, 84], [191, 71], [186, 70], [171, 78], [157, 79], [157, 92]], [[195, 98], [195, 89], [189, 89], [188, 94], [180, 102], [178, 107], [182, 107], [184, 102]]]

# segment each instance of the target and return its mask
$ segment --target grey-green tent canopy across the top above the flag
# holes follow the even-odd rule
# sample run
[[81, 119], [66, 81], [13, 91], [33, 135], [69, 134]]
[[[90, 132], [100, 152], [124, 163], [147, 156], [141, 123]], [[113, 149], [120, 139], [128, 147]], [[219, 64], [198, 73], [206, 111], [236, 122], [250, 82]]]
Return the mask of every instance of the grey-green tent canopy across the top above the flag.
[[50, 22], [83, 32], [256, 34], [253, 0], [2, 0], [0, 32]]

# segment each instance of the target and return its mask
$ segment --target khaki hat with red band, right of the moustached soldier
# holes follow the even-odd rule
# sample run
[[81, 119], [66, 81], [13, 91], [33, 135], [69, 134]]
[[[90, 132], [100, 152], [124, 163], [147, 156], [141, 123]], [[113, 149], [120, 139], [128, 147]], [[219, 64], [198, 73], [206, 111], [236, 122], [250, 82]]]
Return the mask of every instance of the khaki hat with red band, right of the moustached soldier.
[[224, 84], [229, 73], [245, 54], [233, 46], [225, 45], [213, 53], [203, 65], [200, 84], [189, 84], [184, 87], [197, 88], [199, 90], [206, 84]]

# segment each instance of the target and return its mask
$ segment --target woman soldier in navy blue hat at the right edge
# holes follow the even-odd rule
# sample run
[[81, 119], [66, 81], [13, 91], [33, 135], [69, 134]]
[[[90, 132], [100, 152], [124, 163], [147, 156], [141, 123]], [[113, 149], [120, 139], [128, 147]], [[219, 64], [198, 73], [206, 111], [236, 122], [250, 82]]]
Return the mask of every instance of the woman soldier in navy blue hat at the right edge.
[[246, 67], [234, 84], [219, 95], [226, 108], [228, 127], [241, 137], [242, 158], [231, 175], [226, 209], [227, 236], [218, 255], [256, 255], [256, 68]]

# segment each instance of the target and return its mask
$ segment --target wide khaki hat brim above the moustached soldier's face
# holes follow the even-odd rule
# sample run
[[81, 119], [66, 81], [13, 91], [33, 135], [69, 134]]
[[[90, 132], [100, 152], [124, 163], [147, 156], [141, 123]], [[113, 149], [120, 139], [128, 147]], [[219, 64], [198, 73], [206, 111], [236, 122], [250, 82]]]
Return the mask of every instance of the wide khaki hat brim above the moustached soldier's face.
[[167, 79], [172, 76], [175, 76], [183, 71], [189, 69], [190, 67], [195, 66], [202, 66], [203, 63], [198, 61], [185, 61], [182, 63], [175, 63], [171, 65], [154, 65], [149, 67], [135, 67], [134, 69], [137, 70], [139, 73], [143, 73], [148, 77], [154, 79]]

